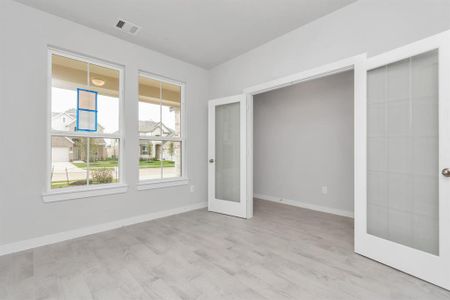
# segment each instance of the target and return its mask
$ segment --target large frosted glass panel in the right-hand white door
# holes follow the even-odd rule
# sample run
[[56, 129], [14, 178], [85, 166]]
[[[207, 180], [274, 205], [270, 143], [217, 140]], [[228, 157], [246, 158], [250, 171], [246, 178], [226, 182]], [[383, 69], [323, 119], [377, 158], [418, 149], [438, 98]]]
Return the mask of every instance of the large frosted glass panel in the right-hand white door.
[[438, 51], [370, 70], [367, 231], [439, 254]]

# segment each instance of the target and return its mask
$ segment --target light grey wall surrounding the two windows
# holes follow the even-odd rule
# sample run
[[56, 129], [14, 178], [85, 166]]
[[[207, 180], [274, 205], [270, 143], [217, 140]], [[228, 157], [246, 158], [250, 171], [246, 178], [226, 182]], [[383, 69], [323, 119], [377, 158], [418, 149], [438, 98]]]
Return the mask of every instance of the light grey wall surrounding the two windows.
[[[0, 245], [206, 201], [208, 73], [9, 0], [0, 1]], [[126, 194], [45, 204], [47, 45], [125, 66]], [[191, 183], [137, 191], [137, 72], [187, 84]]]

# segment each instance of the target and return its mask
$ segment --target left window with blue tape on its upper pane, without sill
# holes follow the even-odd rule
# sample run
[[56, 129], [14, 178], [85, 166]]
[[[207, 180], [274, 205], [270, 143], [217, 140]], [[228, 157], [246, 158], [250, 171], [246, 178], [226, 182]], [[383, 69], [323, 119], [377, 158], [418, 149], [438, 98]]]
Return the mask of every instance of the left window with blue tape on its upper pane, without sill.
[[121, 69], [55, 51], [50, 59], [49, 190], [120, 183]]

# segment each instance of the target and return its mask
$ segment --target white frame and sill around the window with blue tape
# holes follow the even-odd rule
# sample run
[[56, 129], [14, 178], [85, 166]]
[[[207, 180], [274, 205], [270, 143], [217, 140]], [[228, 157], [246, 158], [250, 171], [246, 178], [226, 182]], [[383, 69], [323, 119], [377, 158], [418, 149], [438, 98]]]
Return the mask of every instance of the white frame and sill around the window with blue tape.
[[[117, 70], [119, 72], [119, 134], [99, 134], [90, 133], [84, 134], [80, 132], [68, 132], [52, 130], [51, 115], [52, 115], [52, 55], [61, 55], [67, 58], [76, 59], [86, 63], [96, 64], [101, 67]], [[100, 59], [92, 58], [86, 55], [75, 54], [65, 50], [49, 47], [47, 56], [47, 168], [46, 168], [46, 184], [45, 190], [42, 193], [42, 199], [44, 202], [56, 202], [70, 199], [79, 199], [107, 194], [125, 193], [128, 189], [125, 180], [124, 172], [124, 67], [119, 64], [109, 63]], [[102, 138], [116, 138], [119, 139], [119, 182], [104, 184], [104, 185], [91, 185], [64, 189], [51, 189], [51, 142], [52, 136], [82, 136], [82, 137], [102, 137]]]

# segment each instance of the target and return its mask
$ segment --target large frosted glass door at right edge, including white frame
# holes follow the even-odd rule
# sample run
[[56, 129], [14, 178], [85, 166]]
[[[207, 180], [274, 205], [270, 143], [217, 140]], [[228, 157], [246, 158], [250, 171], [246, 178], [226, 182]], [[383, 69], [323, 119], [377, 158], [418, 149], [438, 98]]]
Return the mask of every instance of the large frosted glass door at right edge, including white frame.
[[450, 289], [450, 31], [355, 70], [355, 252]]

